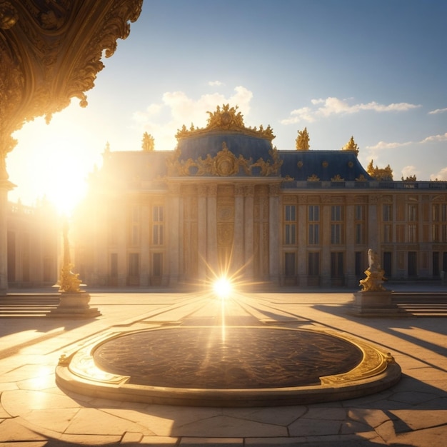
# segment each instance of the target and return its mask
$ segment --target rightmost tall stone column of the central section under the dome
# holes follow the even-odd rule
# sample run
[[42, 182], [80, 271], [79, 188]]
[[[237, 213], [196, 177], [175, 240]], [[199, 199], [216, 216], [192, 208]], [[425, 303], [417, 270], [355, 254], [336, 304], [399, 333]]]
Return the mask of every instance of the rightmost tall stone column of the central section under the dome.
[[279, 209], [279, 184], [269, 186], [268, 191], [268, 271], [270, 281], [279, 283], [279, 222], [281, 220], [281, 210]]

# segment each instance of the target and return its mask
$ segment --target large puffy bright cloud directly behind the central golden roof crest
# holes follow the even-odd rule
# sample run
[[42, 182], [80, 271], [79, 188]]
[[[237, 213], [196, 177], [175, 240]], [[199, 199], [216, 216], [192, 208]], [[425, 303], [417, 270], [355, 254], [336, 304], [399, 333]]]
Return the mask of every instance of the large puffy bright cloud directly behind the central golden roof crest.
[[216, 106], [230, 104], [246, 116], [250, 111], [253, 93], [243, 86], [237, 86], [234, 94], [204, 94], [199, 99], [192, 99], [183, 91], [167, 91], [161, 97], [161, 104], [149, 104], [145, 111], [134, 112], [132, 118], [141, 132], [154, 136], [156, 149], [169, 150], [176, 146], [175, 135], [183, 125], [187, 128], [206, 126], [209, 118], [207, 111], [215, 111]]

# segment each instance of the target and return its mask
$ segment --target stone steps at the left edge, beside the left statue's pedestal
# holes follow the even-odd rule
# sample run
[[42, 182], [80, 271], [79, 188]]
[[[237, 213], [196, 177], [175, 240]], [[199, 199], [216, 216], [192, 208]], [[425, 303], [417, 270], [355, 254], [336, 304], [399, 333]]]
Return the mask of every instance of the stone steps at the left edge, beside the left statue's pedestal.
[[46, 316], [58, 304], [57, 295], [9, 293], [0, 296], [0, 318]]

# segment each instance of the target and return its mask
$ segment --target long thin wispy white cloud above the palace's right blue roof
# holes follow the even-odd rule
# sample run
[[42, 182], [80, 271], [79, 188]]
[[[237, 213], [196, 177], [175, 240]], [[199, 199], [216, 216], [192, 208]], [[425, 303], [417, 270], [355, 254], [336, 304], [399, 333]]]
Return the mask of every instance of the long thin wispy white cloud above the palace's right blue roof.
[[367, 104], [349, 104], [346, 99], [338, 99], [329, 96], [326, 99], [311, 99], [313, 106], [318, 106], [313, 109], [310, 107], [301, 107], [301, 109], [294, 109], [291, 111], [290, 116], [287, 119], [281, 121], [282, 124], [294, 124], [299, 121], [315, 121], [318, 116], [331, 116], [339, 114], [357, 114], [361, 111], [376, 111], [376, 112], [389, 112], [389, 111], [408, 111], [421, 107], [417, 104], [409, 104], [406, 102], [392, 103], [392, 104], [378, 104], [376, 101], [368, 102]]

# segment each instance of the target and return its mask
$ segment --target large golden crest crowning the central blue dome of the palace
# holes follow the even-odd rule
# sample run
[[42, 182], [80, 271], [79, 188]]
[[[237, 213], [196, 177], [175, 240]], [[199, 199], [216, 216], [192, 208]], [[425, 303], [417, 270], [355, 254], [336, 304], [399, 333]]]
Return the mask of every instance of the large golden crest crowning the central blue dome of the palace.
[[191, 124], [190, 129], [186, 129], [186, 126], [182, 126], [180, 130], [177, 131], [176, 139], [184, 139], [189, 136], [197, 136], [200, 134], [206, 134], [209, 131], [236, 131], [241, 132], [241, 134], [248, 136], [255, 136], [257, 138], [265, 138], [268, 140], [273, 140], [275, 136], [273, 135], [273, 130], [270, 126], [266, 129], [263, 126], [256, 127], [246, 127], [243, 124], [243, 116], [241, 112], [237, 112], [238, 106], [231, 107], [229, 104], [224, 104], [222, 107], [217, 106], [216, 111], [206, 113], [209, 114], [208, 123], [204, 128], [196, 128], [194, 124]]

